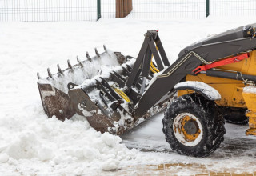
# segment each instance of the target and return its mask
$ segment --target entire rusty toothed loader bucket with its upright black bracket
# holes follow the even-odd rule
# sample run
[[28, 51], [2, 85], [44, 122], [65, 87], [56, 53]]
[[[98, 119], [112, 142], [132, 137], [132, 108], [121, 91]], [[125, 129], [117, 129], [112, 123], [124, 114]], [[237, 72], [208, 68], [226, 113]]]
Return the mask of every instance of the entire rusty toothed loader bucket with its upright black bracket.
[[75, 66], [68, 62], [66, 70], [58, 66], [58, 74], [48, 70], [49, 77], [38, 75], [46, 114], [64, 120], [77, 113], [95, 130], [121, 135], [166, 109], [176, 92], [154, 83], [170, 66], [158, 31], [148, 30], [138, 57], [130, 58], [96, 51], [96, 57]]

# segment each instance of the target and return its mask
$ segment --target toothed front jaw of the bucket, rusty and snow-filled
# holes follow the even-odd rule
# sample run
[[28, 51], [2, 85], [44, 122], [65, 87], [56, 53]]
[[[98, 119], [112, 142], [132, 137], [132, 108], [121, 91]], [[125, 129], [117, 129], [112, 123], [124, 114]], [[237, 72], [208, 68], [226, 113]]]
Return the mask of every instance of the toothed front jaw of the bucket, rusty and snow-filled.
[[101, 74], [102, 67], [111, 68], [119, 66], [126, 62], [129, 57], [124, 57], [120, 52], [112, 52], [104, 46], [104, 52], [98, 53], [95, 49], [96, 56], [90, 58], [86, 52], [86, 60], [80, 61], [72, 66], [67, 61], [68, 68], [62, 70], [57, 65], [58, 73], [51, 74], [48, 68], [48, 77], [41, 78], [38, 74], [38, 89], [42, 100], [42, 106], [49, 118], [55, 116], [59, 120], [64, 121], [65, 118], [71, 118], [76, 111], [70, 101], [68, 93], [68, 83], [80, 85], [86, 79], [93, 78], [95, 75]]

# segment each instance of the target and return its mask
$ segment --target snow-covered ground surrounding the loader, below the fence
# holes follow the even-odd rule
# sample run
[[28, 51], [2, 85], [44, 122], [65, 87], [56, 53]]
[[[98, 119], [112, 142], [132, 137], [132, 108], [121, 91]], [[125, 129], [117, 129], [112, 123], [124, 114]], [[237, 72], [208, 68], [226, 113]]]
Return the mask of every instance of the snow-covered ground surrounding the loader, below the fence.
[[[100, 134], [82, 117], [65, 122], [47, 118], [38, 94], [37, 76], [57, 63], [76, 63], [76, 55], [94, 55], [94, 47], [137, 56], [146, 30], [159, 30], [170, 62], [192, 42], [253, 23], [252, 17], [146, 21], [102, 19], [99, 22], [9, 22], [0, 24], [0, 173], [1, 175], [95, 175], [102, 170], [160, 163], [199, 163], [209, 170], [256, 170], [256, 138], [247, 126], [226, 124], [226, 140], [209, 158], [175, 154], [162, 134], [162, 113], [122, 138]], [[132, 149], [135, 148], [135, 149]], [[230, 156], [229, 156], [230, 155]], [[136, 170], [135, 170], [136, 172]], [[178, 174], [195, 174], [180, 170]], [[108, 172], [108, 174], [114, 174]]]

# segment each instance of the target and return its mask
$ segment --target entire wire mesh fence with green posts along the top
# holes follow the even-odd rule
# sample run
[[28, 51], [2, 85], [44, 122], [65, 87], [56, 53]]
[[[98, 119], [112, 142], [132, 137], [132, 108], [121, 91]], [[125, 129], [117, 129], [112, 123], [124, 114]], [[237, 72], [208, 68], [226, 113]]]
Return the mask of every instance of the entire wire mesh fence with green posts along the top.
[[[98, 18], [115, 18], [116, 1], [128, 0], [0, 0], [0, 22], [97, 21]], [[133, 10], [127, 18], [256, 15], [256, 0], [132, 1]]]

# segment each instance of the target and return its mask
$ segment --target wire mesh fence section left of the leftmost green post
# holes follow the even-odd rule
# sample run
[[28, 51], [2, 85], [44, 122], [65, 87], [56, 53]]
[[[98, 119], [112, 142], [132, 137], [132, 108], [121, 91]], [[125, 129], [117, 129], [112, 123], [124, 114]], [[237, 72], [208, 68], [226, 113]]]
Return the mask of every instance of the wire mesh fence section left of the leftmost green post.
[[0, 21], [96, 21], [97, 0], [0, 0]]

